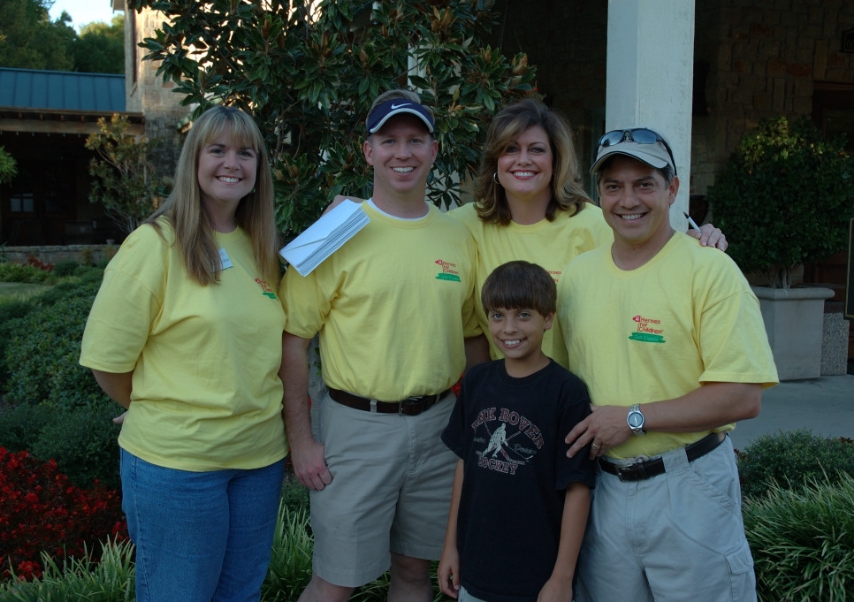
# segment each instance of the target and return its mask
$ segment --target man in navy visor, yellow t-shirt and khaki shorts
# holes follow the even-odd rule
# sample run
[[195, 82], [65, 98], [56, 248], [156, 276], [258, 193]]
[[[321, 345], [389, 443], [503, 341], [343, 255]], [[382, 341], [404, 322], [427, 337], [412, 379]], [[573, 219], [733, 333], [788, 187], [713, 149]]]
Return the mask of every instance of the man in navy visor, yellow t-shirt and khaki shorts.
[[[285, 412], [299, 480], [312, 489], [312, 580], [300, 600], [346, 600], [391, 566], [389, 600], [433, 599], [456, 456], [441, 441], [474, 317], [474, 241], [425, 200], [436, 159], [417, 94], [380, 95], [366, 120], [370, 223], [280, 288]], [[328, 395], [307, 399], [320, 335]]]

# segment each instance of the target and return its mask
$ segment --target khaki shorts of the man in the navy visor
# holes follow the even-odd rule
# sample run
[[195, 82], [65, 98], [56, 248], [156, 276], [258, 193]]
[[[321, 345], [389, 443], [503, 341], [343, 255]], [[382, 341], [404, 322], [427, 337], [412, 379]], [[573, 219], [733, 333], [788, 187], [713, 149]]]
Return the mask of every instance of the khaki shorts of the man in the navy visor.
[[391, 552], [442, 554], [457, 457], [441, 440], [454, 395], [418, 416], [376, 414], [333, 401], [312, 407], [332, 482], [311, 492], [314, 572], [357, 587], [382, 575]]

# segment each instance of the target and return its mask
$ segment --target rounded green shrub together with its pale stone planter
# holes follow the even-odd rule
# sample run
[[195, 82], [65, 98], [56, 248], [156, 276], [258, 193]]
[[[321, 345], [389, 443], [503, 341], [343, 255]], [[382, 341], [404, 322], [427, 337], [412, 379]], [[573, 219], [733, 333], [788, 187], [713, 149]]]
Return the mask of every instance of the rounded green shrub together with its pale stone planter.
[[826, 288], [798, 286], [805, 261], [843, 250], [854, 216], [854, 157], [805, 118], [745, 135], [707, 199], [728, 252], [759, 298], [782, 380], [821, 375]]

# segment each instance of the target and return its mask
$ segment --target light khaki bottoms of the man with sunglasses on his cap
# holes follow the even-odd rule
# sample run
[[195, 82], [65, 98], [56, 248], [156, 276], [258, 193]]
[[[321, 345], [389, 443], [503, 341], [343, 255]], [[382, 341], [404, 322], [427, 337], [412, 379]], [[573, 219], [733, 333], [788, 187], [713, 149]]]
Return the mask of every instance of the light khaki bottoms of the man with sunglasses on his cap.
[[665, 474], [621, 482], [599, 469], [578, 560], [579, 602], [755, 602], [753, 558], [729, 437]]

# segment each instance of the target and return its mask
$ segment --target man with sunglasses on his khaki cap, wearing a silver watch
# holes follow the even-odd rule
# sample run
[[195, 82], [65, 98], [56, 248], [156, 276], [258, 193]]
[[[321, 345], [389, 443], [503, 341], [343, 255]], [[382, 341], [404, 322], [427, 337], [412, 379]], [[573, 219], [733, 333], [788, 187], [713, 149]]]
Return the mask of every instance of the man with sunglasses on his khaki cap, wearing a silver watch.
[[755, 600], [726, 432], [777, 382], [759, 302], [738, 266], [670, 226], [667, 141], [608, 132], [592, 171], [614, 242], [560, 280], [570, 369], [593, 412], [567, 436], [599, 476], [579, 557], [579, 602]]

